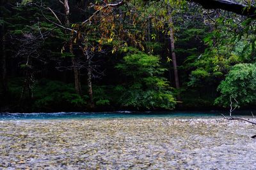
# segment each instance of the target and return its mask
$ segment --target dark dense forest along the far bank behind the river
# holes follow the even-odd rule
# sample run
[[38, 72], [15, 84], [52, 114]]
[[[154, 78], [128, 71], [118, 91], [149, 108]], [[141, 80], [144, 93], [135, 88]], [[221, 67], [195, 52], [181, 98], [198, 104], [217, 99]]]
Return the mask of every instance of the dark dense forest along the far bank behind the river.
[[256, 106], [254, 1], [0, 2], [1, 112]]

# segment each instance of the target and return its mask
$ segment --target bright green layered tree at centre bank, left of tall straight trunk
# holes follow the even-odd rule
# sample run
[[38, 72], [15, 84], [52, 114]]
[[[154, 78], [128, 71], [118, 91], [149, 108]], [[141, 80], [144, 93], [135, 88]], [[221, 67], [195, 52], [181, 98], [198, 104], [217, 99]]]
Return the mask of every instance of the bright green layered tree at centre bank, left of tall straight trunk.
[[170, 92], [169, 82], [161, 77], [166, 70], [159, 65], [159, 57], [142, 52], [129, 54], [116, 69], [127, 76], [130, 83], [116, 86], [122, 94], [118, 103], [132, 108], [164, 108], [172, 110], [175, 99]]

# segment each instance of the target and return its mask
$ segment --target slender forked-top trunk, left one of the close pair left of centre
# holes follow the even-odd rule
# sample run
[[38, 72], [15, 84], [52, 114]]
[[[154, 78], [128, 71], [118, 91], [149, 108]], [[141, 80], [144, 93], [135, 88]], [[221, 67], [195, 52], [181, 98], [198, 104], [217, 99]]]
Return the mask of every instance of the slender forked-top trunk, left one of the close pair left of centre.
[[[68, 18], [69, 17], [68, 0], [64, 0], [63, 5], [64, 5], [64, 8], [65, 8], [65, 25], [67, 27], [69, 27], [70, 22], [69, 22], [69, 18]], [[74, 55], [72, 39], [70, 40], [69, 50], [70, 50], [70, 53], [72, 53], [72, 55]], [[77, 69], [76, 59], [75, 59], [75, 57], [72, 57], [71, 60], [72, 60], [72, 68], [73, 68], [73, 72], [74, 72], [75, 90], [76, 90], [76, 93], [79, 94], [79, 96], [81, 96], [82, 95], [81, 81], [80, 81], [80, 78], [79, 78], [79, 70]]]

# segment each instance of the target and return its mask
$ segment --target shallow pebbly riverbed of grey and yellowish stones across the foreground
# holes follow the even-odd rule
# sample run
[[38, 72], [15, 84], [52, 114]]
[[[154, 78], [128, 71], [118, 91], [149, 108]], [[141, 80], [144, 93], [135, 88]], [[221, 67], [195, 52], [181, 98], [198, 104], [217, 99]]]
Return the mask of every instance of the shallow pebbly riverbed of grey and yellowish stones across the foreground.
[[255, 169], [255, 130], [223, 118], [4, 120], [0, 169]]

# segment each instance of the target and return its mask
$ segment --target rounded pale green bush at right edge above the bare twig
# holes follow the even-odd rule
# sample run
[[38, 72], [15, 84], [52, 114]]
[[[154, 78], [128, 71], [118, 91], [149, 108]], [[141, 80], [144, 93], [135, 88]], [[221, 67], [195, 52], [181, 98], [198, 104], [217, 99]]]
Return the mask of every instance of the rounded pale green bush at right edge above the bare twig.
[[216, 104], [227, 107], [230, 98], [236, 99], [239, 106], [256, 103], [256, 65], [237, 64], [232, 67], [225, 80], [221, 81], [218, 90], [221, 96]]

